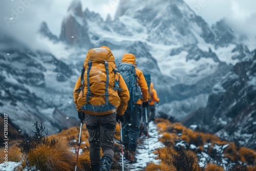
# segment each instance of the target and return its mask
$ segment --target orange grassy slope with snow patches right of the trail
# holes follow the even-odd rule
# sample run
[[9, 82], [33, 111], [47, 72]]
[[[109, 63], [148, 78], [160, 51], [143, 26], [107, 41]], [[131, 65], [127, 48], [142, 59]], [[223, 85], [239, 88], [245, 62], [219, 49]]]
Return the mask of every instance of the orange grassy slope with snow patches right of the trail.
[[215, 135], [187, 129], [181, 123], [157, 120], [160, 141], [165, 145], [155, 154], [159, 164], [150, 163], [146, 170], [256, 170], [256, 152]]

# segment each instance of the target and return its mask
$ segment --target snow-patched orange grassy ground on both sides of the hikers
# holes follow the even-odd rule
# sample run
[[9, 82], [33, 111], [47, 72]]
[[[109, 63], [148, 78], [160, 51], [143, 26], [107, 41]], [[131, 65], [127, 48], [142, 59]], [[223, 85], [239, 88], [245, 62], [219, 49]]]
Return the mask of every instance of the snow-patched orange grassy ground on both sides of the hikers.
[[[157, 148], [159, 163], [148, 163], [145, 170], [256, 170], [256, 152], [233, 142], [222, 141], [215, 135], [187, 129], [181, 123], [168, 120], [156, 121], [162, 134], [159, 141], [165, 146]], [[79, 126], [71, 127], [59, 134], [47, 136], [45, 127], [35, 123], [33, 136], [9, 147], [8, 160], [20, 162], [17, 170], [73, 170], [76, 161]], [[120, 140], [119, 125], [116, 140]], [[90, 170], [89, 142], [86, 126], [83, 125], [78, 168]], [[0, 149], [4, 150], [4, 149]], [[0, 154], [3, 163], [4, 154]], [[115, 143], [112, 170], [121, 170], [120, 144]]]

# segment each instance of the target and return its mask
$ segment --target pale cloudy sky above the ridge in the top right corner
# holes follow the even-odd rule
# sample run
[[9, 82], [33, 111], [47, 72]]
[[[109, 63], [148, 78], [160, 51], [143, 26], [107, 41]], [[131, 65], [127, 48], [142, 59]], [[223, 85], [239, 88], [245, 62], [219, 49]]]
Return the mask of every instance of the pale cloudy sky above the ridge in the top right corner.
[[[184, 0], [197, 15], [211, 26], [225, 18], [230, 27], [238, 33], [256, 36], [256, 1], [247, 0]], [[252, 22], [254, 20], [254, 22]]]

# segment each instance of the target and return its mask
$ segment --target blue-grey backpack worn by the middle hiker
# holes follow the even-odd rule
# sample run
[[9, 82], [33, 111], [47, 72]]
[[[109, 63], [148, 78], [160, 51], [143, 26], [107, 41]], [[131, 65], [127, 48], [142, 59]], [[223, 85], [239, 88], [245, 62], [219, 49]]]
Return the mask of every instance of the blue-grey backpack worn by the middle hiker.
[[127, 108], [133, 111], [133, 105], [141, 98], [139, 77], [136, 74], [135, 66], [132, 63], [122, 62], [118, 66], [118, 72], [122, 75], [130, 93], [130, 100]]

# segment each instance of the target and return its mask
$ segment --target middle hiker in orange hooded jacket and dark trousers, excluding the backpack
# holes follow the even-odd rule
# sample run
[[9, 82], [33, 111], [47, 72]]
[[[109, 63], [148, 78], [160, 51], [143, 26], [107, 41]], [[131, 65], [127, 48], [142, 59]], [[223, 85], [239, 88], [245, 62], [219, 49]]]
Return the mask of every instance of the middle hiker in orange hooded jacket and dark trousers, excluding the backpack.
[[[136, 162], [135, 151], [137, 147], [137, 141], [140, 134], [140, 110], [148, 107], [148, 88], [142, 71], [136, 68], [135, 56], [130, 53], [125, 53], [122, 57], [121, 62], [131, 63], [135, 66], [137, 75], [138, 86], [142, 92], [142, 99], [139, 99], [133, 106], [127, 107], [124, 113], [124, 122], [122, 123], [122, 137], [124, 144], [124, 157], [131, 161]], [[131, 95], [130, 95], [131, 96]], [[130, 97], [129, 104], [131, 103], [132, 97]]]

